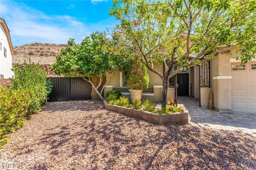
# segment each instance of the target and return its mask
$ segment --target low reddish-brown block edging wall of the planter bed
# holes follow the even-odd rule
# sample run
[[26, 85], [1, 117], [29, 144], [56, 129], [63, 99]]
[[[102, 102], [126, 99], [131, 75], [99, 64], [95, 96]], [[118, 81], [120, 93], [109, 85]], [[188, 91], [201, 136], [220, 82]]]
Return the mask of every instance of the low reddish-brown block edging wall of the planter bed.
[[149, 121], [159, 125], [163, 125], [165, 123], [168, 123], [171, 125], [188, 125], [187, 110], [183, 110], [183, 112], [181, 113], [165, 113], [165, 114], [159, 115], [157, 113], [139, 111], [139, 110], [117, 106], [117, 105], [110, 105], [106, 102], [106, 100], [104, 100], [103, 103], [105, 108], [110, 111], [115, 111], [118, 113], [122, 113], [124, 115], [136, 117], [136, 118], [143, 119], [145, 121]]

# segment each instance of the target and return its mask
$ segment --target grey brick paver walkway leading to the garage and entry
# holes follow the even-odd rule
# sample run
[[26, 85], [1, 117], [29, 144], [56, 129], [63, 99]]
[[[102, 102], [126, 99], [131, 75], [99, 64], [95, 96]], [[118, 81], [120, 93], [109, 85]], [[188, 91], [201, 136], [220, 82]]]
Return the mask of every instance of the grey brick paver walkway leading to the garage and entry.
[[199, 127], [239, 131], [256, 137], [256, 114], [220, 113], [199, 107], [194, 97], [178, 97], [178, 105], [189, 113], [189, 123]]

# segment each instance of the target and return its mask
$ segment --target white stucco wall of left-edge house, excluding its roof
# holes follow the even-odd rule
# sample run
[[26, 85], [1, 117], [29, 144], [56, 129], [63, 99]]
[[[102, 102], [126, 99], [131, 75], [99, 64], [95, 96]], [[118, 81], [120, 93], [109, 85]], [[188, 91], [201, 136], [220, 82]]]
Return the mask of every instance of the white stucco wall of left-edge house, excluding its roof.
[[[2, 25], [0, 25], [0, 28], [0, 42], [2, 43], [2, 48], [0, 49], [0, 74], [4, 75], [4, 78], [7, 79], [14, 75], [11, 71], [12, 54], [4, 28], [2, 28]], [[4, 57], [4, 47], [6, 48], [6, 57]]]

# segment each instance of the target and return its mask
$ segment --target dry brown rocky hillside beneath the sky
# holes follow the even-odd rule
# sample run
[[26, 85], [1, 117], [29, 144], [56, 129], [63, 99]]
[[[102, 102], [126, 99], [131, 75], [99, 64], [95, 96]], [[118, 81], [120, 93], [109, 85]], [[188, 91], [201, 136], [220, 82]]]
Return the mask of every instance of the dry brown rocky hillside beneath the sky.
[[14, 48], [12, 63], [22, 64], [24, 60], [39, 64], [53, 64], [56, 56], [60, 54], [62, 48], [66, 48], [66, 44], [50, 44], [50, 43], [30, 43]]

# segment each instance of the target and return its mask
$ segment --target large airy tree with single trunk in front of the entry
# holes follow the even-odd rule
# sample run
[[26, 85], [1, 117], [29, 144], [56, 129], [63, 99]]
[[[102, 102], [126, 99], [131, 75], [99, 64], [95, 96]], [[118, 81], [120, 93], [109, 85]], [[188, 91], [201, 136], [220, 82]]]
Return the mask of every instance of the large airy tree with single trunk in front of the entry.
[[[113, 36], [163, 81], [236, 47], [243, 62], [255, 58], [255, 0], [114, 0], [110, 14], [120, 20]], [[246, 40], [243, 41], [243, 40]], [[192, 57], [193, 56], [193, 57]], [[170, 61], [170, 62], [167, 62]], [[153, 63], [163, 63], [163, 74]]]

